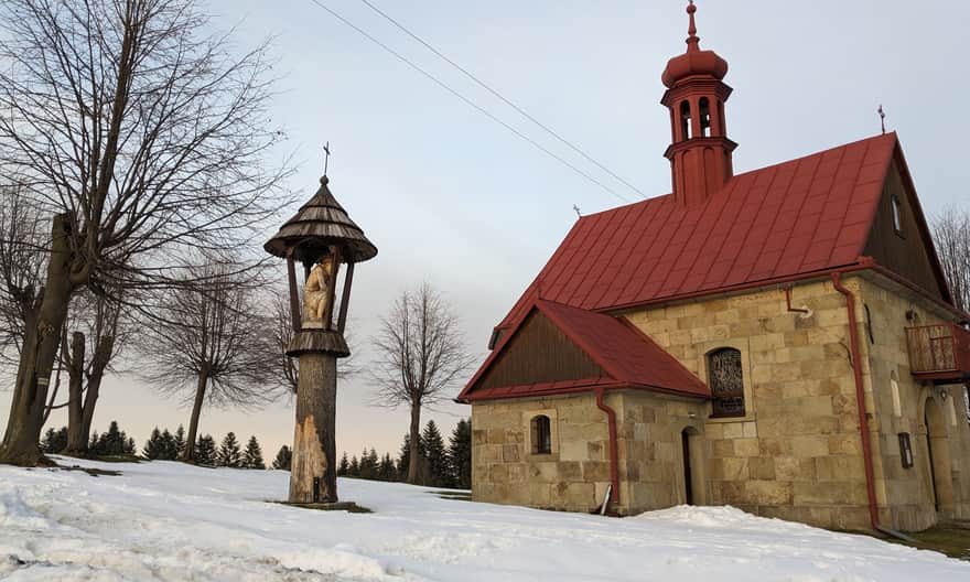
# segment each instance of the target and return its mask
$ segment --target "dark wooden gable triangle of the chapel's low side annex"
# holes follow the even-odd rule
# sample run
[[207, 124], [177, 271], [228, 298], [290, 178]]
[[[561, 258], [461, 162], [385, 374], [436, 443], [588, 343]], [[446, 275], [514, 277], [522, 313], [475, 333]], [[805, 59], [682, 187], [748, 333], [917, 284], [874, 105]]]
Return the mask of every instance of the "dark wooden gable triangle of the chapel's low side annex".
[[475, 388], [602, 378], [606, 373], [541, 311], [534, 310]]

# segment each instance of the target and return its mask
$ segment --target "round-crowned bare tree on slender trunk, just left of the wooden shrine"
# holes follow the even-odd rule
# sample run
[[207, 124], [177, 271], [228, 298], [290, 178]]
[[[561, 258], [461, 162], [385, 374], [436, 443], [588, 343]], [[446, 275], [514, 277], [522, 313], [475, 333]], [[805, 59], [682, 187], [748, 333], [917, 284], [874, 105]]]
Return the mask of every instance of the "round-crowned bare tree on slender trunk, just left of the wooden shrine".
[[141, 376], [157, 390], [192, 402], [182, 454], [190, 462], [205, 403], [260, 407], [283, 391], [273, 375], [274, 322], [257, 300], [254, 281], [220, 265], [197, 273], [196, 281], [165, 294], [163, 321], [144, 330], [140, 347]]

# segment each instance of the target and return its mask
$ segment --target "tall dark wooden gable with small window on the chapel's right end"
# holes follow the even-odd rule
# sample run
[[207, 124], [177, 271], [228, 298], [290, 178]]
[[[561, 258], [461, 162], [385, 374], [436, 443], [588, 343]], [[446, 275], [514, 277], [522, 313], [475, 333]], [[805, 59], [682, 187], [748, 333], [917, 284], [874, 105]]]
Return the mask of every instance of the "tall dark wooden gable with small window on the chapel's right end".
[[929, 227], [899, 155], [894, 157], [886, 173], [864, 255], [919, 285], [931, 297], [950, 302]]

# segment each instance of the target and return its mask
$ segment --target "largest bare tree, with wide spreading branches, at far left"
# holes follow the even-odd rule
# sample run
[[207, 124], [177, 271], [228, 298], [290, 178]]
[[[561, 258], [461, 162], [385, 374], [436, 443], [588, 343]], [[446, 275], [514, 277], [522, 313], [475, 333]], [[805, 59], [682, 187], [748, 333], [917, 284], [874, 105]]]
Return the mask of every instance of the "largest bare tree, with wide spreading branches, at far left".
[[51, 219], [0, 462], [41, 459], [75, 293], [175, 284], [281, 206], [266, 45], [236, 55], [209, 24], [195, 0], [0, 3], [0, 170]]

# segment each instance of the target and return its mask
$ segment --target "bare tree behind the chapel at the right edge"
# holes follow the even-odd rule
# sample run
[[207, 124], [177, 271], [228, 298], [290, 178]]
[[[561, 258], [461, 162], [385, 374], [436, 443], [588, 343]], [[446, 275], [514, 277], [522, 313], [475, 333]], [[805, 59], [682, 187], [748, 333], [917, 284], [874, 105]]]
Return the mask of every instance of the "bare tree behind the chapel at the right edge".
[[933, 219], [931, 228], [953, 303], [970, 311], [970, 211], [947, 208]]

